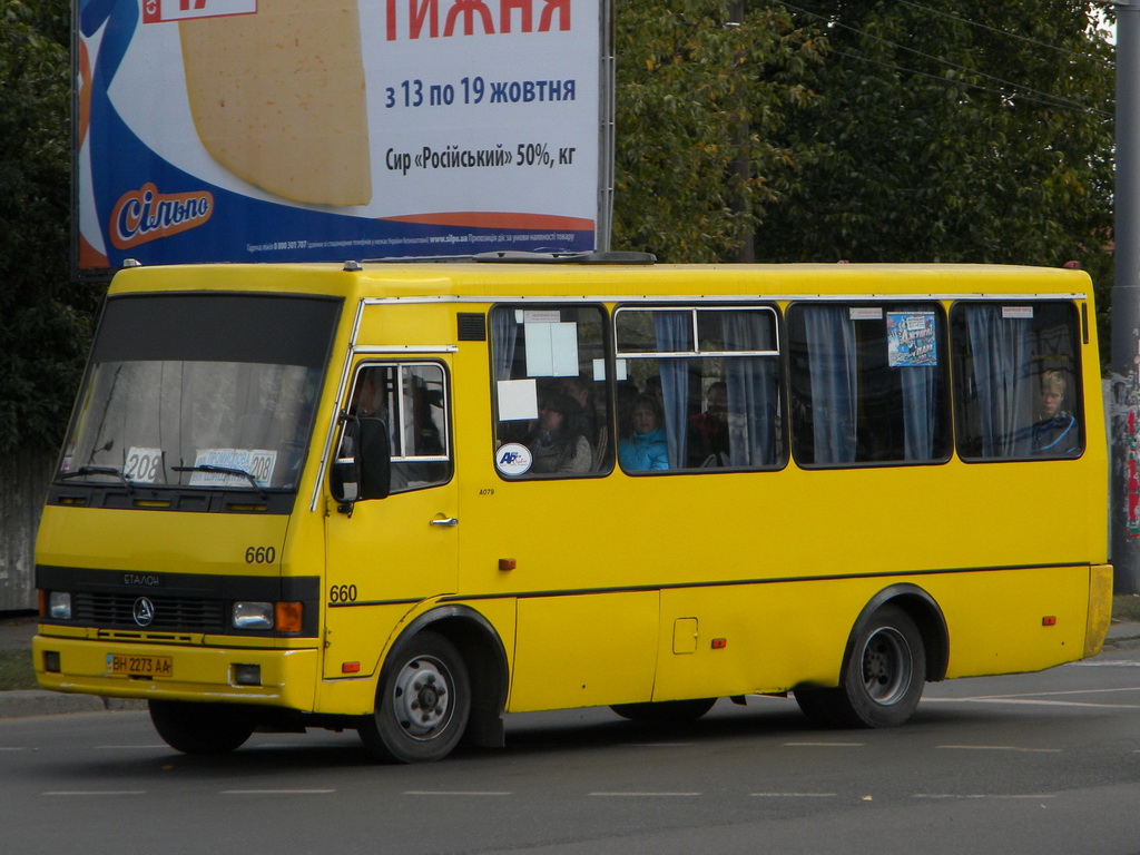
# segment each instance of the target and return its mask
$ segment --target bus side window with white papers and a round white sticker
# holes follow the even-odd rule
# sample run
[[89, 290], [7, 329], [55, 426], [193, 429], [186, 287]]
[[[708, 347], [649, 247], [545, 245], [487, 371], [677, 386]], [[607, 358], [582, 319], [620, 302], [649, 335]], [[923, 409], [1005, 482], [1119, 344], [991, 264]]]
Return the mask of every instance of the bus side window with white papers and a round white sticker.
[[499, 306], [491, 310], [491, 332], [499, 474], [609, 472], [613, 440], [602, 308]]

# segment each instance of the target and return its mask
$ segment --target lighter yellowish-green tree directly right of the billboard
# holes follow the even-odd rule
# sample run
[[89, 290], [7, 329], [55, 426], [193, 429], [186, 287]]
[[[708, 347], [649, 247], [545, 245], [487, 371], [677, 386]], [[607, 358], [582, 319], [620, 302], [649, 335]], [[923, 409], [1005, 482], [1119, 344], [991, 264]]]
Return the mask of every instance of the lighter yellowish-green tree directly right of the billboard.
[[[797, 152], [773, 141], [812, 99], [819, 46], [777, 5], [634, 0], [616, 11], [613, 245], [735, 260]], [[790, 180], [790, 178], [788, 179]]]

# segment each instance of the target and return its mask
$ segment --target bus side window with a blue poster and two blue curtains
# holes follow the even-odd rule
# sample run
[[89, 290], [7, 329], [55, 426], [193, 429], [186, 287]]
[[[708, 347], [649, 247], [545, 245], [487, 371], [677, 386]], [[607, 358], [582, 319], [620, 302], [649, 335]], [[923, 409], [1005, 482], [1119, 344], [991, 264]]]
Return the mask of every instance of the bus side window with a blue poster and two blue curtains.
[[788, 311], [792, 451], [804, 465], [950, 457], [945, 321], [937, 303]]

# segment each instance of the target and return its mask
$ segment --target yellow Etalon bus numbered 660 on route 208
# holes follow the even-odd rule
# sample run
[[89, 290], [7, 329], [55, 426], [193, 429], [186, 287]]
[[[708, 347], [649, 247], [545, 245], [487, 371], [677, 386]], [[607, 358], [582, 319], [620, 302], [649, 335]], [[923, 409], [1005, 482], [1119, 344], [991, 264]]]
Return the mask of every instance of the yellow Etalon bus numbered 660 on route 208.
[[173, 748], [506, 712], [692, 719], [1099, 652], [1092, 288], [997, 266], [635, 253], [112, 283], [36, 545], [43, 686]]

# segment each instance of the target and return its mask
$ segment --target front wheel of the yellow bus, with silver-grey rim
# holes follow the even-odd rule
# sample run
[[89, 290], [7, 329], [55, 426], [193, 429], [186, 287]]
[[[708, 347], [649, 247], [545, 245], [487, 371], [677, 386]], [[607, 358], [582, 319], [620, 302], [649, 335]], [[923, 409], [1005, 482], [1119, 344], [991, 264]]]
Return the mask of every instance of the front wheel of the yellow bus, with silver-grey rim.
[[471, 715], [467, 667], [455, 645], [420, 633], [389, 657], [376, 687], [375, 711], [358, 727], [377, 759], [432, 763], [458, 744]]

